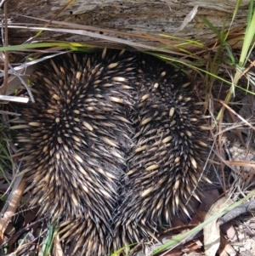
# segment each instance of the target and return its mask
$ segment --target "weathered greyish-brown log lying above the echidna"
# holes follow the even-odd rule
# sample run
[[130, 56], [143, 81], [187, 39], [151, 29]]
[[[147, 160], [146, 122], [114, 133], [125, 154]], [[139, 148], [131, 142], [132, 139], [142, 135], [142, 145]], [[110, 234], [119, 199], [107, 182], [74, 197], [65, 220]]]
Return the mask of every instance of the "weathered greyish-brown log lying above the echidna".
[[[8, 19], [11, 19], [14, 23], [35, 23], [35, 20], [21, 16], [27, 15], [50, 20], [68, 2], [68, 0], [8, 0]], [[249, 0], [242, 1], [233, 27], [246, 24], [249, 2]], [[115, 31], [144, 32], [156, 37], [164, 33], [176, 37], [194, 38], [202, 43], [209, 43], [216, 35], [203, 23], [202, 17], [206, 17], [218, 31], [221, 31], [223, 24], [225, 28], [229, 27], [235, 4], [235, 0], [76, 0], [67, 9], [64, 9], [56, 20]], [[197, 13], [194, 19], [183, 30], [179, 31], [184, 19], [196, 6]], [[3, 10], [1, 16], [3, 19]], [[41, 24], [43, 23], [41, 22]], [[37, 31], [11, 29], [9, 42], [10, 44], [23, 43], [36, 33]], [[92, 40], [79, 35], [63, 35], [54, 32], [44, 32], [39, 39], [79, 42]], [[130, 38], [125, 37], [125, 39]], [[133, 41], [160, 46], [160, 43], [152, 42], [150, 39], [133, 38]]]

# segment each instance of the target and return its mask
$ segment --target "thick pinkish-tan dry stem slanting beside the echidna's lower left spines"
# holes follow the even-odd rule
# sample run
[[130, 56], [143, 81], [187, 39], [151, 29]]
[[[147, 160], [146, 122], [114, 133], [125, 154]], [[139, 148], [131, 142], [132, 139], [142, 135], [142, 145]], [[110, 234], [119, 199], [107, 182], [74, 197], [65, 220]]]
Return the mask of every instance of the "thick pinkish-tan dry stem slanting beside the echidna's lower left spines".
[[3, 217], [0, 219], [0, 239], [3, 242], [3, 232], [6, 230], [8, 223], [14, 216], [16, 209], [20, 205], [20, 198], [25, 190], [26, 180], [22, 179], [17, 190], [14, 191], [11, 202], [9, 202], [8, 209], [3, 214]]

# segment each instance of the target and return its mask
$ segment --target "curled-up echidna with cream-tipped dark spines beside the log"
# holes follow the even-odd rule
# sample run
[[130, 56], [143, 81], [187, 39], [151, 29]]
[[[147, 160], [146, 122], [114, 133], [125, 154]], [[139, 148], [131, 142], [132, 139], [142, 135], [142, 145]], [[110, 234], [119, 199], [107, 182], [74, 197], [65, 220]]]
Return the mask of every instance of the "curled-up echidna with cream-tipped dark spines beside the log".
[[23, 173], [31, 205], [60, 221], [75, 251], [107, 255], [185, 210], [207, 145], [182, 72], [104, 50], [61, 55], [33, 77], [36, 103], [19, 109]]

